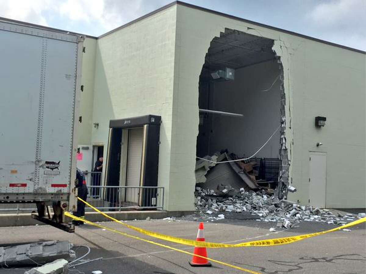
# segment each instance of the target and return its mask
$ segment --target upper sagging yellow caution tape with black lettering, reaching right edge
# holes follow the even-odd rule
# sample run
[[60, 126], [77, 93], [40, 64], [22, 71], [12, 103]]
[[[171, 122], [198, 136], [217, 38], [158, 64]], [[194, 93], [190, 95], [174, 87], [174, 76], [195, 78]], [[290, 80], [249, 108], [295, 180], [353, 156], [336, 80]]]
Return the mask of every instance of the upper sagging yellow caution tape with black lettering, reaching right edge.
[[133, 230], [135, 230], [139, 233], [142, 233], [142, 234], [145, 234], [147, 236], [151, 236], [151, 237], [154, 237], [154, 238], [157, 238], [157, 239], [177, 243], [177, 244], [191, 245], [191, 246], [195, 246], [195, 247], [206, 247], [206, 248], [233, 248], [233, 247], [253, 247], [253, 246], [264, 247], [264, 246], [272, 246], [272, 245], [290, 244], [290, 243], [294, 243], [296, 241], [301, 241], [301, 240], [304, 240], [304, 239], [307, 239], [307, 238], [311, 238], [311, 237], [314, 237], [314, 236], [326, 234], [326, 233], [329, 233], [329, 232], [334, 232], [336, 230], [348, 228], [350, 226], [354, 226], [354, 225], [358, 225], [358, 224], [361, 224], [363, 222], [366, 222], [366, 217], [365, 217], [365, 218], [362, 218], [362, 219], [358, 219], [354, 222], [351, 222], [349, 224], [342, 225], [342, 226], [339, 226], [337, 228], [333, 228], [333, 229], [329, 229], [329, 230], [325, 230], [325, 231], [321, 231], [321, 232], [315, 232], [315, 233], [303, 234], [303, 235], [291, 236], [291, 237], [284, 237], [284, 238], [277, 238], [277, 239], [250, 241], [250, 242], [244, 242], [244, 243], [239, 243], [239, 244], [221, 244], [221, 243], [211, 243], [211, 242], [206, 242], [206, 241], [202, 242], [202, 241], [183, 239], [183, 238], [179, 238], [179, 237], [169, 236], [169, 235], [153, 232], [153, 231], [150, 231], [150, 230], [138, 228], [138, 227], [135, 227], [135, 226], [132, 226], [132, 225], [128, 225], [128, 224], [126, 224], [124, 222], [121, 222], [121, 221], [109, 216], [108, 214], [105, 214], [104, 212], [98, 210], [97, 208], [95, 208], [91, 204], [85, 202], [83, 199], [81, 199], [81, 198], [78, 198], [78, 199], [81, 202], [85, 203], [87, 206], [91, 207], [93, 210], [95, 210], [98, 213], [102, 214], [103, 216], [107, 217], [108, 219], [111, 219], [112, 221], [115, 221], [115, 222], [117, 222], [121, 225], [124, 225], [127, 228], [133, 229]]

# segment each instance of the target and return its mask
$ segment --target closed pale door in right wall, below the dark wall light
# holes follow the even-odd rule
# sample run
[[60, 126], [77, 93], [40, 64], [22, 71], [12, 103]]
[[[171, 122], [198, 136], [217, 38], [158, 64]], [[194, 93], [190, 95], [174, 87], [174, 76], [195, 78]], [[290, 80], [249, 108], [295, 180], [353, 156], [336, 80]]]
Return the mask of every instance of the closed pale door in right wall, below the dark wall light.
[[325, 208], [326, 153], [309, 153], [309, 203]]

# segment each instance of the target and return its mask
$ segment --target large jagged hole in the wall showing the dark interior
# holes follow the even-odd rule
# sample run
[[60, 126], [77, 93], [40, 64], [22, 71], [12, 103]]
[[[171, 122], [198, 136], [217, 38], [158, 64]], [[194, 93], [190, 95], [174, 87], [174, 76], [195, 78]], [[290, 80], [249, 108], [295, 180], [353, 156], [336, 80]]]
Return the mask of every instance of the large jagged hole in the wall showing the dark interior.
[[[202, 168], [203, 163], [198, 160], [199, 185], [210, 189], [219, 184], [235, 188], [243, 185], [269, 192], [278, 190], [278, 185], [286, 189], [288, 176], [282, 176], [283, 166], [287, 165], [282, 118], [283, 68], [272, 50], [273, 43], [271, 39], [231, 29], [225, 29], [211, 41], [199, 77], [197, 157], [213, 161], [248, 158], [273, 136], [253, 158], [233, 162], [231, 166], [226, 163], [220, 168]], [[218, 158], [210, 158], [215, 153]], [[200, 166], [201, 173], [197, 174]], [[230, 168], [243, 174], [228, 174], [232, 173]], [[206, 178], [202, 172], [207, 172]], [[241, 182], [240, 176], [254, 184], [246, 184], [245, 178]], [[279, 196], [286, 195], [285, 192]]]

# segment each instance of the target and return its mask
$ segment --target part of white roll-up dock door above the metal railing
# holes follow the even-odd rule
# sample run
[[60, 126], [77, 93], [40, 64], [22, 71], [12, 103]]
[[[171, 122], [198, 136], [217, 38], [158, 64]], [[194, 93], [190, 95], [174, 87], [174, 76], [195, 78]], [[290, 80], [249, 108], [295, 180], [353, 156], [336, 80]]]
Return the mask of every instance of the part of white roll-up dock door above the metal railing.
[[139, 186], [141, 176], [143, 129], [132, 128], [129, 130], [128, 156], [127, 156], [127, 182], [128, 186]]

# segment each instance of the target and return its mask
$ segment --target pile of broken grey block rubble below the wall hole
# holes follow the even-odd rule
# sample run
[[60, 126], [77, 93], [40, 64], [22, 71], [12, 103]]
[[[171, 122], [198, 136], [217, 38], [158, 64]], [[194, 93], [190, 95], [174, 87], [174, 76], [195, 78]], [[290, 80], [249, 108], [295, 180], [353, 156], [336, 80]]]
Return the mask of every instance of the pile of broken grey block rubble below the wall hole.
[[249, 213], [258, 216], [258, 221], [276, 222], [277, 227], [291, 228], [300, 221], [317, 221], [344, 225], [354, 221], [352, 214], [334, 215], [328, 209], [300, 206], [288, 200], [279, 200], [264, 190], [254, 192], [244, 188], [236, 190], [220, 184], [217, 190], [196, 187], [195, 207], [203, 219], [224, 219], [225, 212]]

